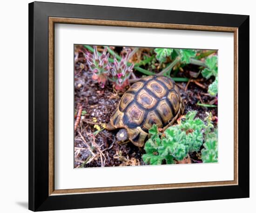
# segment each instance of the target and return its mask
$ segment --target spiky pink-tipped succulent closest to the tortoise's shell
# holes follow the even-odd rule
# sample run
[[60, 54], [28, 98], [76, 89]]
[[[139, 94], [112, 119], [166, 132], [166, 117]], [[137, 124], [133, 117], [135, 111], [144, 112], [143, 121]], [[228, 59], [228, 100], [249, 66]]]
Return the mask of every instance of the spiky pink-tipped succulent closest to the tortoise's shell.
[[123, 90], [129, 84], [129, 77], [133, 71], [134, 64], [127, 65], [131, 50], [128, 50], [126, 56], [122, 56], [121, 61], [118, 61], [114, 55], [114, 63], [110, 69], [108, 80], [115, 85], [115, 89]]

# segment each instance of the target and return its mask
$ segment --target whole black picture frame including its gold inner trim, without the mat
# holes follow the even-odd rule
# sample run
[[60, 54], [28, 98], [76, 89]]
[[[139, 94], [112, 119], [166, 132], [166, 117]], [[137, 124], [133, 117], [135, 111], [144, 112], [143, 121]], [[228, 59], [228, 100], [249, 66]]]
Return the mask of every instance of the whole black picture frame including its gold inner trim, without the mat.
[[[55, 190], [56, 23], [234, 33], [234, 180]], [[48, 2], [30, 3], [28, 151], [29, 209], [32, 211], [248, 198], [249, 16]]]

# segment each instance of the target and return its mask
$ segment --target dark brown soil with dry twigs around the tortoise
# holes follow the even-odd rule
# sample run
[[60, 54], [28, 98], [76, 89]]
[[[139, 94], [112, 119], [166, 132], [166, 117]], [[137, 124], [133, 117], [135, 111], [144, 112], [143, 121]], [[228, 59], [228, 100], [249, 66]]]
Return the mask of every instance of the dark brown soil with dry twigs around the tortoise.
[[[82, 106], [81, 120], [74, 135], [74, 167], [145, 165], [141, 159], [141, 155], [145, 153], [143, 147], [139, 148], [130, 142], [122, 146], [118, 145], [115, 141], [116, 131], [104, 129], [95, 134], [97, 126], [94, 125], [102, 129], [101, 124], [108, 123], [122, 93], [116, 92], [111, 85], [107, 84], [101, 88], [97, 82], [94, 82], [82, 53], [78, 54], [74, 66], [74, 122], [77, 119], [79, 106]], [[191, 78], [189, 75], [191, 71], [198, 72], [198, 66], [183, 67], [183, 72], [179, 72], [178, 77]], [[217, 116], [217, 107], [207, 108], [197, 105], [198, 101], [206, 104], [216, 102], [216, 98], [210, 97], [206, 89], [211, 81], [203, 79], [198, 81], [201, 86], [195, 82], [190, 82], [189, 85], [188, 82], [177, 83], [185, 102], [185, 113], [196, 110], [197, 117], [201, 119], [206, 117], [206, 112]], [[198, 154], [189, 153], [189, 155], [191, 163], [202, 162]]]

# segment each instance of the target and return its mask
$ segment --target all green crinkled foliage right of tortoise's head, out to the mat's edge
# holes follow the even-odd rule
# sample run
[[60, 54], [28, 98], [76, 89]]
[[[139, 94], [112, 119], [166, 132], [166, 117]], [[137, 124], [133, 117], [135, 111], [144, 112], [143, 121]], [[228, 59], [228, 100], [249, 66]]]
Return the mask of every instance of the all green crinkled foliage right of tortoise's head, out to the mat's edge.
[[145, 143], [142, 160], [150, 165], [162, 164], [163, 160], [175, 164], [189, 153], [198, 152], [203, 144], [203, 162], [217, 162], [217, 129], [212, 124], [212, 114], [208, 113], [204, 121], [195, 115], [196, 111], [188, 112], [178, 125], [168, 127], [164, 133], [154, 124], [149, 129], [151, 137]]

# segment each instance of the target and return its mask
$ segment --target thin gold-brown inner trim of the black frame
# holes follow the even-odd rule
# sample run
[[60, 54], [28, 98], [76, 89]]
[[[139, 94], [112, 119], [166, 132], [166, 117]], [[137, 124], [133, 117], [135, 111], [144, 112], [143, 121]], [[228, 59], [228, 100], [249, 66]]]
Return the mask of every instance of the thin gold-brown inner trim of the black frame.
[[[55, 23], [234, 33], [234, 180], [55, 190], [54, 188], [54, 24]], [[49, 134], [49, 184], [48, 184], [49, 196], [74, 194], [74, 193], [106, 193], [106, 192], [121, 192], [121, 191], [140, 191], [140, 190], [159, 190], [159, 189], [174, 189], [174, 188], [189, 188], [189, 187], [238, 185], [238, 28], [237, 27], [197, 26], [197, 25], [180, 25], [180, 24], [167, 24], [167, 23], [49, 17], [48, 41], [49, 41], [49, 55], [48, 55], [49, 56], [49, 67], [48, 67], [49, 68], [49, 92], [48, 92], [48, 95], [49, 95], [48, 97], [49, 98], [49, 109], [48, 109], [49, 110], [49, 133], [48, 133]]]

